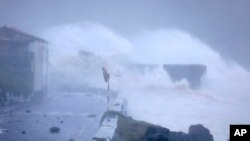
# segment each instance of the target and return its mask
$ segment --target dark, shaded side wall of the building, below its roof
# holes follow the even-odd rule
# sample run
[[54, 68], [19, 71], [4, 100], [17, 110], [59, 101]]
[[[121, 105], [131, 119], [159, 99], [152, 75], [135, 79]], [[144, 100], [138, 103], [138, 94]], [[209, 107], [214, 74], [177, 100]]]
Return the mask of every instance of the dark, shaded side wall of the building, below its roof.
[[0, 41], [0, 85], [17, 97], [29, 97], [33, 91], [33, 53], [28, 46], [24, 41]]

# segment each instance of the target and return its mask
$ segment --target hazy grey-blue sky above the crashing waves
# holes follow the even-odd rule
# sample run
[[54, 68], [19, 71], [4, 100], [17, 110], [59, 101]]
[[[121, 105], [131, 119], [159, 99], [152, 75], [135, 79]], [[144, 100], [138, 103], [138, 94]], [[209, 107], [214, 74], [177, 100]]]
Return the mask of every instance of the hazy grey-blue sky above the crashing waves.
[[93, 21], [130, 37], [178, 28], [250, 69], [248, 0], [0, 0], [0, 26], [39, 34], [49, 26]]

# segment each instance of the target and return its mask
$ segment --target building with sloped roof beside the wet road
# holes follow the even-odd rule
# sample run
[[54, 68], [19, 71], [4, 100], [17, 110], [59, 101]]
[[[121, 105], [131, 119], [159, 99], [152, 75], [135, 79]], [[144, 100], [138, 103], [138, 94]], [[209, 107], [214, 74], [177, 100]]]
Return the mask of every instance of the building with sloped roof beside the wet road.
[[[0, 97], [26, 99], [47, 93], [48, 42], [12, 27], [0, 27]], [[4, 91], [4, 93], [3, 93]]]

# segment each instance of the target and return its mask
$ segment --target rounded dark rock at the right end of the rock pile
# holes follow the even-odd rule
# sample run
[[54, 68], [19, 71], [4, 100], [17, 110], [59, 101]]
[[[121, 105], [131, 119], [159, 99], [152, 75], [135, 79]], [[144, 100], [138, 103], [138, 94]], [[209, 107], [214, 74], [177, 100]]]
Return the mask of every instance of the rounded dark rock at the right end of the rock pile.
[[203, 125], [191, 125], [189, 127], [188, 134], [195, 141], [213, 141], [213, 135], [210, 134], [210, 131], [205, 128]]

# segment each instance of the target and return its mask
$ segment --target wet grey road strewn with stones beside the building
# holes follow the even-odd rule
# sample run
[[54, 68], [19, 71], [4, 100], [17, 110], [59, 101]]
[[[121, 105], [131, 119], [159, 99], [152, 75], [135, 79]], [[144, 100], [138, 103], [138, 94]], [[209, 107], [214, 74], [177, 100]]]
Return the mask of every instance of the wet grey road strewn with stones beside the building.
[[2, 113], [0, 141], [88, 141], [107, 110], [106, 96], [94, 92], [54, 94], [42, 103]]

